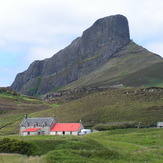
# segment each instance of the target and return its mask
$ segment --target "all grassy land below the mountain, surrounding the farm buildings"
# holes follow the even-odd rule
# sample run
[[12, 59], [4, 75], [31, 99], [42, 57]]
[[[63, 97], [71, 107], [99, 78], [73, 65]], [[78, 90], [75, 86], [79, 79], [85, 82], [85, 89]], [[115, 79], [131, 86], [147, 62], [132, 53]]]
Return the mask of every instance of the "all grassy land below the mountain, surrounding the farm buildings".
[[[18, 136], [19, 124], [26, 113], [29, 117], [55, 114], [59, 122], [81, 119], [89, 128], [110, 122], [141, 122], [142, 128], [115, 129], [85, 136], [21, 137]], [[163, 120], [162, 115], [161, 88], [108, 89], [83, 93], [76, 100], [61, 99], [60, 103], [3, 90], [0, 93], [0, 163], [161, 163], [163, 129], [143, 127], [156, 126], [157, 121]], [[11, 147], [14, 151], [16, 143], [4, 145], [5, 138], [32, 143], [37, 148], [29, 157], [13, 152], [6, 154], [3, 150]]]

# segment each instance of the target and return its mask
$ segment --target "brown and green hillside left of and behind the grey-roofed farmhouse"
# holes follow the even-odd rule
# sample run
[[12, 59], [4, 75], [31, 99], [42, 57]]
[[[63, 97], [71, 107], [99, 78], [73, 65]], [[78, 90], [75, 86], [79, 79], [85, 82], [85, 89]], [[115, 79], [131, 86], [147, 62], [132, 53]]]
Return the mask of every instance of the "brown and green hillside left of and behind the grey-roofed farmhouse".
[[18, 134], [25, 114], [51, 108], [33, 97], [22, 96], [9, 88], [0, 88], [0, 135]]

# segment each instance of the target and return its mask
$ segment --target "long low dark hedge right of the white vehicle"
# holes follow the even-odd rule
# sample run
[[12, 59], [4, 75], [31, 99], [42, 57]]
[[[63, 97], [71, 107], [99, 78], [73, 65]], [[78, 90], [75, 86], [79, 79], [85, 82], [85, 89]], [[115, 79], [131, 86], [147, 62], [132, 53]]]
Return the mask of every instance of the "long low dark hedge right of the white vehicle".
[[135, 122], [112, 122], [107, 124], [97, 124], [94, 126], [95, 130], [105, 131], [113, 129], [125, 129], [125, 128], [136, 128], [137, 124]]

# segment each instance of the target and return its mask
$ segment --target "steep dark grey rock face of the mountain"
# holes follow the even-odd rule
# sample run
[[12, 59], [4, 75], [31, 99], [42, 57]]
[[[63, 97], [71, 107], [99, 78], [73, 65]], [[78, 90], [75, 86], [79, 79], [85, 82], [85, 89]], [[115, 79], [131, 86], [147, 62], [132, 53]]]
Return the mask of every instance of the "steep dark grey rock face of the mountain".
[[126, 17], [99, 19], [53, 57], [33, 62], [28, 70], [16, 76], [11, 88], [27, 95], [57, 89], [95, 70], [129, 41]]

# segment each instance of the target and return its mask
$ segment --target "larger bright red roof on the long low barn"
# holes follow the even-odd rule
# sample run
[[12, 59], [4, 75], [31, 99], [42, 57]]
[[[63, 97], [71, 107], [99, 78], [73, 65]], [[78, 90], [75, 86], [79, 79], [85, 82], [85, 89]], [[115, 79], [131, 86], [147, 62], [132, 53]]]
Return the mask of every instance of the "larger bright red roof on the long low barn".
[[50, 131], [78, 131], [80, 123], [55, 123]]

